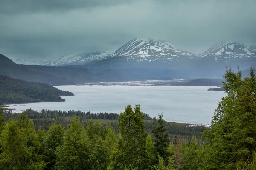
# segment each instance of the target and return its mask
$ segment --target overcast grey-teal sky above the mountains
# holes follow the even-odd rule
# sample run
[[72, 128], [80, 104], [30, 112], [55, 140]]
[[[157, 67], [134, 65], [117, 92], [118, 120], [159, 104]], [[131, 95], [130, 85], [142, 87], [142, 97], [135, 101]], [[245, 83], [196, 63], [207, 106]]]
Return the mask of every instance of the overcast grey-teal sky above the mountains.
[[134, 37], [197, 54], [256, 43], [256, 0], [0, 0], [0, 24], [0, 54], [12, 59], [115, 51]]

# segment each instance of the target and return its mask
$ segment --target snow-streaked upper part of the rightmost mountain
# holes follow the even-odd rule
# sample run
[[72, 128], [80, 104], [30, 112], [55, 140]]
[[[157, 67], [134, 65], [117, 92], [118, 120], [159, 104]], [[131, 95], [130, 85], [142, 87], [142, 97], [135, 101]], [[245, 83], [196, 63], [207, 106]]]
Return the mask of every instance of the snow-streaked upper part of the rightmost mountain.
[[227, 63], [230, 61], [238, 61], [240, 59], [249, 59], [256, 57], [256, 53], [250, 51], [244, 45], [232, 41], [222, 41], [209, 48], [199, 58], [214, 59], [218, 63]]

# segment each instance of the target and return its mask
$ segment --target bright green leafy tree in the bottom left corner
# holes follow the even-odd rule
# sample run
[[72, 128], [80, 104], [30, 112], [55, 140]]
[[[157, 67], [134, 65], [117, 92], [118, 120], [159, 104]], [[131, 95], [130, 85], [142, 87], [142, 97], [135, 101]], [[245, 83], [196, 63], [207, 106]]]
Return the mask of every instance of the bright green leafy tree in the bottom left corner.
[[41, 145], [35, 127], [24, 114], [18, 120], [10, 119], [2, 130], [0, 167], [3, 170], [43, 170], [46, 167], [39, 153]]

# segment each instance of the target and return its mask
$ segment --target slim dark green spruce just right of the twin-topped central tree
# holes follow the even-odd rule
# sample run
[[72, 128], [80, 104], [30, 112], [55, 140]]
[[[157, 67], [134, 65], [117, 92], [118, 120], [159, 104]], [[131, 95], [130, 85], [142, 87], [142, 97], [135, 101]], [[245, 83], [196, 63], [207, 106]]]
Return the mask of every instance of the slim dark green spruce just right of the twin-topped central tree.
[[167, 163], [168, 157], [170, 156], [168, 151], [170, 139], [167, 130], [164, 127], [163, 113], [158, 114], [157, 125], [154, 126], [152, 133], [154, 135], [153, 142], [156, 153], [158, 153]]

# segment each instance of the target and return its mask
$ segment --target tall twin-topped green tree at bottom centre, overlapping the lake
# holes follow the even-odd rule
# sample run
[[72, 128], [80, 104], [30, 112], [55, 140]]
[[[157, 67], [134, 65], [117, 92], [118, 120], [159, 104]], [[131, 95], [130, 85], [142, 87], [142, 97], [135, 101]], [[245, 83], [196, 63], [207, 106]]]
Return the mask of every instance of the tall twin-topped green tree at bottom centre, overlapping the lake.
[[109, 170], [148, 170], [152, 163], [148, 161], [147, 133], [145, 132], [144, 114], [140, 105], [134, 111], [131, 105], [125, 107], [118, 119], [120, 138], [116, 152], [111, 157]]

